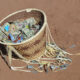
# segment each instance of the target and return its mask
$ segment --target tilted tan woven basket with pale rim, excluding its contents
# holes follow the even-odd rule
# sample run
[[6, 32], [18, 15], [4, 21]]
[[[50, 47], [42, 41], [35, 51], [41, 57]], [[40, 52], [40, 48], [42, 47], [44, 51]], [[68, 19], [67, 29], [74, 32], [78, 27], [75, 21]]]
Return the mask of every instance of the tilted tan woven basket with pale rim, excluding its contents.
[[20, 10], [15, 13], [8, 15], [2, 21], [0, 21], [0, 26], [2, 26], [6, 22], [15, 21], [17, 19], [27, 19], [29, 17], [34, 17], [37, 21], [41, 22], [41, 29], [37, 34], [31, 37], [28, 40], [25, 40], [21, 43], [3, 43], [3, 45], [10, 45], [14, 47], [20, 55], [28, 60], [38, 59], [45, 52], [46, 47], [46, 15], [43, 11], [38, 9], [25, 9]]

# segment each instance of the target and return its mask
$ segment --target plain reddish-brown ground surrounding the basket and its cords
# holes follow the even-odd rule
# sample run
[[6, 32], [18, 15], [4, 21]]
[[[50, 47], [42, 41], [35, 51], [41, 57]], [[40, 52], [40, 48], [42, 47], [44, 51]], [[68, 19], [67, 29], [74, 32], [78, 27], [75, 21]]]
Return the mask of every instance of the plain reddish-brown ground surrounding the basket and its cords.
[[[0, 0], [0, 20], [26, 8], [44, 10], [57, 45], [72, 54], [80, 52], [80, 0]], [[67, 70], [34, 74], [11, 71], [0, 57], [0, 80], [80, 80], [80, 56], [71, 58]]]

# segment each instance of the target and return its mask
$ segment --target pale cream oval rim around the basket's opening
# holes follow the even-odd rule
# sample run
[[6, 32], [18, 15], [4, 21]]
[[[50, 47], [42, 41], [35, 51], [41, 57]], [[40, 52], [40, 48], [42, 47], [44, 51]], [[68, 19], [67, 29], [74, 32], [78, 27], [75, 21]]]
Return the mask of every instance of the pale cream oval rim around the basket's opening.
[[20, 13], [20, 12], [23, 12], [23, 11], [31, 12], [32, 10], [39, 11], [39, 12], [41, 12], [41, 13], [43, 14], [43, 16], [44, 16], [44, 23], [43, 23], [42, 28], [41, 28], [34, 36], [32, 36], [31, 38], [29, 38], [29, 39], [27, 39], [27, 40], [22, 41], [21, 43], [4, 43], [4, 42], [1, 42], [1, 41], [0, 41], [0, 44], [4, 44], [4, 45], [21, 45], [21, 44], [24, 44], [24, 43], [29, 42], [29, 41], [31, 41], [32, 39], [36, 38], [36, 36], [38, 36], [38, 35], [41, 33], [41, 31], [43, 31], [43, 29], [44, 29], [44, 28], [46, 27], [46, 25], [47, 25], [47, 16], [46, 16], [46, 14], [44, 13], [43, 10], [36, 9], [36, 8], [27, 8], [27, 9], [23, 9], [23, 10], [19, 10], [19, 11], [13, 12], [13, 13], [9, 14], [8, 16], [6, 16], [5, 18], [3, 18], [3, 19], [0, 21], [0, 24], [1, 24], [4, 20], [6, 20], [7, 18], [9, 18], [9, 17], [11, 17], [11, 16], [13, 16], [13, 15], [15, 15], [15, 14], [17, 14], [17, 13]]

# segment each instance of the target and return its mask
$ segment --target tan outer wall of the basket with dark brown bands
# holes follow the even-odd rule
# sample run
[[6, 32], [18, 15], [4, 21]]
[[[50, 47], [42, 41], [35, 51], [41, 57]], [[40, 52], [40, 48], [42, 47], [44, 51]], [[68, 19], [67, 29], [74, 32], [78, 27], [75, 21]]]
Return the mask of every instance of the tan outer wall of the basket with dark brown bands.
[[46, 32], [44, 30], [34, 39], [14, 48], [25, 58], [35, 59], [44, 54], [46, 47]]

